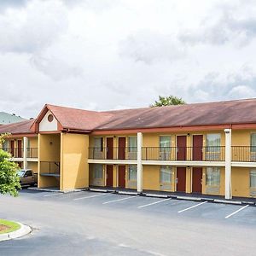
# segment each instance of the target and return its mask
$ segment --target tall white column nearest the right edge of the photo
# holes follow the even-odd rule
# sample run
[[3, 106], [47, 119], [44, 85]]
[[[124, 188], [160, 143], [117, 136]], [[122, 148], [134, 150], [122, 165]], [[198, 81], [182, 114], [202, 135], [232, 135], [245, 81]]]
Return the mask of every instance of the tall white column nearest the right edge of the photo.
[[225, 129], [225, 199], [231, 199], [231, 129]]

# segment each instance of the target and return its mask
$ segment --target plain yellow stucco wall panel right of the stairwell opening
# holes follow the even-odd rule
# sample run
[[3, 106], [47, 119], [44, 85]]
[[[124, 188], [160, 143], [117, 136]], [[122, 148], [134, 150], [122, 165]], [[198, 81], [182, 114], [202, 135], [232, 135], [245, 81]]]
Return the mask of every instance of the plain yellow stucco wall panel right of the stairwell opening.
[[89, 186], [89, 137], [61, 133], [61, 189], [82, 189]]

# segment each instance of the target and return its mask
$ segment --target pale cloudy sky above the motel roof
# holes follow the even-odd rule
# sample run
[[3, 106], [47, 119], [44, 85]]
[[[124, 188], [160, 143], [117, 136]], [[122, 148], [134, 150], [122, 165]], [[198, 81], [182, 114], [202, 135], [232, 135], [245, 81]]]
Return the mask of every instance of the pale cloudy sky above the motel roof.
[[256, 97], [255, 0], [1, 0], [0, 111]]

